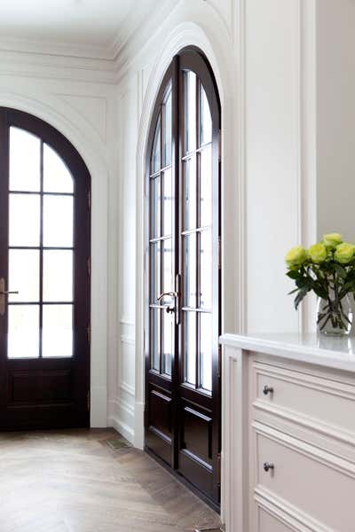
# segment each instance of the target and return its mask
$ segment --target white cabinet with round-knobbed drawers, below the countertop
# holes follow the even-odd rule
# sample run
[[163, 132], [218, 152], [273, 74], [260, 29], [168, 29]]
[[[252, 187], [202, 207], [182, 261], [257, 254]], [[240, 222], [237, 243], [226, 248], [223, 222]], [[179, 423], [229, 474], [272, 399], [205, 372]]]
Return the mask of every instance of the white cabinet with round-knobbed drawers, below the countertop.
[[354, 532], [355, 355], [353, 373], [242, 347], [225, 346], [226, 532]]

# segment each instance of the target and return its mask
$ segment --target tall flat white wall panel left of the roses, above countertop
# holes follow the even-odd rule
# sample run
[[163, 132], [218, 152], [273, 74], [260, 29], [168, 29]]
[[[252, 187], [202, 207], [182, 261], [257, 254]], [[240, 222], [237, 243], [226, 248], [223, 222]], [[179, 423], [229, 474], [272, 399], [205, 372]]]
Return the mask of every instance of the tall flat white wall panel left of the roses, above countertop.
[[[283, 255], [300, 239], [300, 2], [246, 3], [248, 331], [297, 331]], [[276, 317], [276, 319], [275, 319]]]

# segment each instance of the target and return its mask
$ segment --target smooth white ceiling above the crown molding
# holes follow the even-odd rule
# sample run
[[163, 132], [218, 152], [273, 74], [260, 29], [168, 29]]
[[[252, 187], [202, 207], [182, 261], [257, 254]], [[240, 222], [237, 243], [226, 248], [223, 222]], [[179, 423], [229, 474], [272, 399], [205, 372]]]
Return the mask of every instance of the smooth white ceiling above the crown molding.
[[1, 3], [5, 42], [117, 49], [162, 0], [7, 0]]

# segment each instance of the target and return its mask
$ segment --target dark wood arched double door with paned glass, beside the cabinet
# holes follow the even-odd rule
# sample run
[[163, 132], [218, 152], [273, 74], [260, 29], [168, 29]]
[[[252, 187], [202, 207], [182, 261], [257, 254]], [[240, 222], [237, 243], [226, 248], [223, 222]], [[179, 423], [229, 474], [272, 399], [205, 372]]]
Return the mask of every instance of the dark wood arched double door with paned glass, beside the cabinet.
[[146, 449], [220, 499], [220, 105], [185, 49], [159, 91], [146, 159]]

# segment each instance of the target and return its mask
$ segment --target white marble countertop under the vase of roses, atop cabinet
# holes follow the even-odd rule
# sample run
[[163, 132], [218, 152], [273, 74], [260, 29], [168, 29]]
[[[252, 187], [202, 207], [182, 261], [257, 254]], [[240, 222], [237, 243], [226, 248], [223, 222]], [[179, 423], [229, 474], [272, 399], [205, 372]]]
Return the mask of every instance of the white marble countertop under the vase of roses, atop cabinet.
[[355, 337], [339, 338], [292, 332], [224, 334], [220, 343], [265, 355], [355, 372]]

